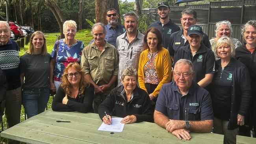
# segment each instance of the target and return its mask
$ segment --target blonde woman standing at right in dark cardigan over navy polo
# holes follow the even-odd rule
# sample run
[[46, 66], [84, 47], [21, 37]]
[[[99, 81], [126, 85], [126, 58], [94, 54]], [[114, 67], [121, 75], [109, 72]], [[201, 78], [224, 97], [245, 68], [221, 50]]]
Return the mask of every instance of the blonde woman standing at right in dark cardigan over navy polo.
[[216, 61], [210, 94], [213, 103], [214, 133], [224, 135], [224, 144], [236, 144], [238, 127], [245, 124], [251, 98], [247, 67], [233, 57], [232, 38], [221, 37], [214, 49]]

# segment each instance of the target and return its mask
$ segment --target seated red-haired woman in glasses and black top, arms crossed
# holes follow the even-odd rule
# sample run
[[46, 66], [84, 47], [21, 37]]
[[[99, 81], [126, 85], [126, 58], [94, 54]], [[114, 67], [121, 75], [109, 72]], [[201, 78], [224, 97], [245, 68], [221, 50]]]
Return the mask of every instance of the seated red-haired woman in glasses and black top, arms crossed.
[[93, 113], [94, 87], [85, 79], [81, 66], [69, 63], [61, 78], [61, 85], [52, 101], [52, 110]]

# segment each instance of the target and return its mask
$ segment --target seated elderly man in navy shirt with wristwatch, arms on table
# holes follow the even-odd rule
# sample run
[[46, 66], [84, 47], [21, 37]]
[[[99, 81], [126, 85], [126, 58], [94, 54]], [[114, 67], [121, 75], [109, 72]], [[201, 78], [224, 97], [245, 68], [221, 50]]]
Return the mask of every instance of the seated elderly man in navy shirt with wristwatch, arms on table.
[[189, 132], [207, 133], [213, 127], [213, 109], [207, 90], [193, 82], [193, 64], [176, 62], [174, 81], [162, 86], [156, 101], [154, 121], [179, 139], [189, 140]]

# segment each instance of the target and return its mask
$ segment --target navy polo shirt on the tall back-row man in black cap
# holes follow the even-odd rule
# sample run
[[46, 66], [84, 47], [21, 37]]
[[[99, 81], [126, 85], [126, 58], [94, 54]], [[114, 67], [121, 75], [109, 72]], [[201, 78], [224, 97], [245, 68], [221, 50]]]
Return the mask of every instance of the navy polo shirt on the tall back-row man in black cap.
[[162, 25], [162, 23], [160, 22], [160, 19], [159, 19], [157, 22], [154, 22], [154, 23], [150, 24], [148, 26], [148, 29], [151, 28], [151, 27], [155, 27], [155, 28], [157, 28], [158, 30], [161, 31], [162, 38], [163, 38], [162, 45], [163, 45], [164, 48], [168, 47], [169, 38], [170, 38], [171, 34], [180, 30], [180, 27], [177, 26], [176, 24], [174, 24], [171, 21], [171, 19], [165, 25]]

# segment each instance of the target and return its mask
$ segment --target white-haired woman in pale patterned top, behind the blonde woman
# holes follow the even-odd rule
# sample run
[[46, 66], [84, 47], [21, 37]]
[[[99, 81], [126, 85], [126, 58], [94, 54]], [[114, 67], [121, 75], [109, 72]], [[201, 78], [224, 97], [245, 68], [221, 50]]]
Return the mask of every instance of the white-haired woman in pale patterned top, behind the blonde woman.
[[[215, 38], [210, 39], [210, 43], [211, 43], [211, 49], [212, 51], [214, 51], [215, 48], [215, 44], [218, 41], [219, 38], [221, 37], [231, 37], [232, 35], [232, 25], [231, 22], [228, 20], [223, 20], [220, 22], [216, 23], [216, 30], [215, 30]], [[241, 42], [238, 39], [232, 38], [233, 44], [235, 46], [235, 48], [237, 48], [238, 46], [241, 46]]]

